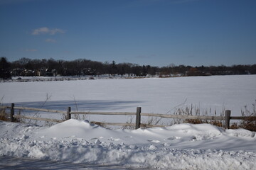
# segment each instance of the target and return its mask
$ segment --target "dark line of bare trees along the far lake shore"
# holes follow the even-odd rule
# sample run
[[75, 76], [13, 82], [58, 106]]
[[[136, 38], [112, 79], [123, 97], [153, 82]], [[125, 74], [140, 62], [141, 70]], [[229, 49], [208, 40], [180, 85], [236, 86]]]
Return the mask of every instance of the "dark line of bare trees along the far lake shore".
[[72, 61], [54, 59], [28, 59], [21, 58], [14, 62], [8, 62], [6, 57], [0, 59], [0, 78], [26, 76], [127, 76], [127, 77], [182, 77], [182, 76], [210, 76], [233, 74], [256, 74], [256, 64], [233, 66], [200, 66], [169, 64], [166, 67], [154, 67], [132, 63], [96, 62], [86, 59]]

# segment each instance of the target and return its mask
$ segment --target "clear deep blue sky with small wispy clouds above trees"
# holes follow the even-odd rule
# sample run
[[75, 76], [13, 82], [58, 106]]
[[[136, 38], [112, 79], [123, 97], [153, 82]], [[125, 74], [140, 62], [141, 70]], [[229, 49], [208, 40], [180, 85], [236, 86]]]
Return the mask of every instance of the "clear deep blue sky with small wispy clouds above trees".
[[0, 0], [0, 57], [256, 64], [256, 1]]

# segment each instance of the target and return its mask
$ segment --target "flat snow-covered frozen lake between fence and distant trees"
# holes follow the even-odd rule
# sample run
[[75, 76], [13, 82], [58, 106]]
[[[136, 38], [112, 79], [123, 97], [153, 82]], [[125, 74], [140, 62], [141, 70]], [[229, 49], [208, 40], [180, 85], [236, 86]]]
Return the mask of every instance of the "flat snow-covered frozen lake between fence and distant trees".
[[[72, 111], [174, 113], [191, 105], [211, 115], [241, 115], [256, 99], [256, 75], [153, 79], [95, 79], [0, 83], [1, 103]], [[48, 98], [48, 99], [46, 99]], [[92, 117], [90, 117], [92, 119]], [[105, 120], [104, 117], [102, 117]], [[125, 118], [127, 119], [127, 118]]]

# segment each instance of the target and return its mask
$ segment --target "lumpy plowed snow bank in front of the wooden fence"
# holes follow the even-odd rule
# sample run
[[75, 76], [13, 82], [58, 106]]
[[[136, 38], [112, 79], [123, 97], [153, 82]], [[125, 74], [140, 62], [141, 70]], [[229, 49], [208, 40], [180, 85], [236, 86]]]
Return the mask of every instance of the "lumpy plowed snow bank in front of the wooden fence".
[[67, 120], [50, 128], [0, 121], [0, 155], [156, 169], [254, 169], [255, 132], [213, 125], [108, 130]]

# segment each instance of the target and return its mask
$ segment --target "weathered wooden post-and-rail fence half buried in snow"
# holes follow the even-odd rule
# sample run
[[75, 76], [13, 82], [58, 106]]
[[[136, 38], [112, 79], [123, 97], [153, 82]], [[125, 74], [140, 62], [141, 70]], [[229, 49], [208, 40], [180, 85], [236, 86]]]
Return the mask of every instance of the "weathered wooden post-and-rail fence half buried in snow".
[[[256, 116], [231, 116], [231, 111], [226, 110], [225, 116], [208, 116], [208, 115], [167, 115], [167, 114], [157, 114], [157, 113], [142, 113], [142, 108], [137, 107], [136, 112], [78, 112], [78, 111], [71, 111], [71, 108], [68, 107], [66, 111], [57, 111], [57, 110], [49, 110], [43, 108], [27, 108], [27, 107], [16, 107], [14, 103], [11, 103], [11, 106], [0, 106], [0, 116], [9, 117], [11, 122], [15, 121], [15, 118], [24, 118], [24, 119], [31, 119], [31, 120], [43, 120], [48, 122], [56, 122], [61, 123], [65, 120], [58, 120], [58, 119], [49, 119], [49, 118], [35, 118], [35, 117], [28, 117], [25, 115], [15, 115], [15, 109], [17, 110], [24, 110], [24, 111], [41, 111], [41, 112], [48, 112], [48, 113], [62, 113], [65, 114], [66, 120], [71, 118], [71, 115], [80, 114], [80, 115], [136, 115], [136, 122], [135, 123], [100, 123], [95, 122], [98, 124], [104, 125], [118, 125], [118, 126], [135, 126], [135, 129], [141, 128], [145, 126], [141, 123], [142, 116], [148, 117], [158, 117], [158, 118], [176, 118], [182, 120], [225, 120], [225, 128], [230, 128], [230, 120], [246, 120], [248, 118], [256, 119]], [[5, 109], [10, 109], [10, 113], [6, 114]], [[164, 125], [149, 125], [149, 127], [164, 127]]]

